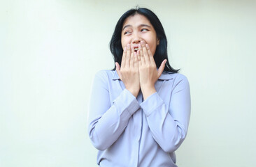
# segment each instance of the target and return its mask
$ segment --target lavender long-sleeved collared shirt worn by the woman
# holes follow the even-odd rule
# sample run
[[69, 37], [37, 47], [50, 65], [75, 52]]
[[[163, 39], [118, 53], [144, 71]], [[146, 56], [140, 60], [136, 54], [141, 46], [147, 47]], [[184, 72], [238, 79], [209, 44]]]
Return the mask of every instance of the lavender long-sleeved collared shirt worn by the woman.
[[176, 166], [175, 150], [190, 120], [190, 86], [183, 74], [163, 72], [156, 93], [134, 97], [116, 71], [94, 77], [88, 116], [90, 140], [102, 167]]

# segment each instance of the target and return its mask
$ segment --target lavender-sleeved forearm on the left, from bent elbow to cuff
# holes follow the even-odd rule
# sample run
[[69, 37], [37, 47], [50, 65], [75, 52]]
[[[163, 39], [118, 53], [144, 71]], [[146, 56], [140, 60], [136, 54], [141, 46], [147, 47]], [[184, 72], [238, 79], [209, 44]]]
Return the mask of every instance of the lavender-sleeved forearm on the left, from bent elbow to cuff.
[[[139, 107], [136, 98], [125, 89], [102, 116], [94, 115], [90, 121], [89, 133], [95, 148], [106, 150], [111, 146], [122, 134], [129, 118]], [[101, 111], [93, 111], [92, 108], [90, 112], [100, 113]]]

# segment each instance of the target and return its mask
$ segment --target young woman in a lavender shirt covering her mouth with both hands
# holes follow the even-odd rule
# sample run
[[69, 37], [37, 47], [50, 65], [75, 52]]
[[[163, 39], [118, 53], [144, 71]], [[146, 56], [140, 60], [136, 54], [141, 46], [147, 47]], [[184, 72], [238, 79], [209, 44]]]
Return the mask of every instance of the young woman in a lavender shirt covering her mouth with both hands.
[[190, 120], [187, 78], [169, 64], [161, 22], [147, 8], [128, 10], [110, 42], [114, 70], [94, 78], [89, 136], [106, 166], [176, 166]]

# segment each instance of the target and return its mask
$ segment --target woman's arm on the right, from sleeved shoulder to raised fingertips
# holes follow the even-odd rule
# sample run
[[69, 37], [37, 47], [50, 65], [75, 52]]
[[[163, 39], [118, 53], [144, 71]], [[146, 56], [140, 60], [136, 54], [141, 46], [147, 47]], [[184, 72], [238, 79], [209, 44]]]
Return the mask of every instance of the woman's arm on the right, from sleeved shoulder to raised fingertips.
[[[157, 70], [148, 44], [141, 41], [138, 46], [138, 67], [140, 72], [141, 103], [148, 120], [152, 137], [165, 152], [174, 152], [185, 139], [190, 120], [190, 87], [187, 79], [176, 78], [171, 93], [171, 102], [167, 106], [155, 90], [155, 82], [164, 70], [166, 60]], [[181, 75], [180, 75], [181, 76]], [[169, 97], [167, 97], [169, 99]]]

